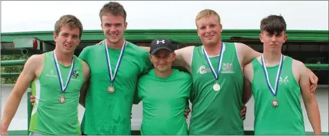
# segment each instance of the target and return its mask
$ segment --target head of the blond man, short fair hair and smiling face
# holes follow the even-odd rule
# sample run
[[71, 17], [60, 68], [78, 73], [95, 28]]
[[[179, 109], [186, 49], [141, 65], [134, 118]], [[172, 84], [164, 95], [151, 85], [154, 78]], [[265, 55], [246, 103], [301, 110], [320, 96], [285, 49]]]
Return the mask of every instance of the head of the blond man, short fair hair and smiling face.
[[216, 45], [221, 42], [222, 26], [220, 17], [214, 10], [202, 10], [195, 19], [197, 33], [203, 45]]

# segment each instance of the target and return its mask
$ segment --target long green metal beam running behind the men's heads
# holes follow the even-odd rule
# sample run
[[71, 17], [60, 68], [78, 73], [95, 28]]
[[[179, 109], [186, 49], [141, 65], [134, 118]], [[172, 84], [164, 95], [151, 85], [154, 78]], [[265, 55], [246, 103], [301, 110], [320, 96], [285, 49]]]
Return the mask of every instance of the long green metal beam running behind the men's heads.
[[[223, 30], [221, 38], [251, 38], [259, 41], [260, 30]], [[288, 41], [329, 41], [328, 30], [287, 30]], [[1, 33], [1, 43], [12, 42], [14, 38], [37, 37], [41, 41], [54, 41], [53, 31], [7, 32]], [[179, 43], [201, 43], [197, 30], [126, 30], [127, 41], [152, 41], [154, 38], [166, 37]], [[84, 30], [82, 41], [101, 41], [105, 38], [102, 30]]]

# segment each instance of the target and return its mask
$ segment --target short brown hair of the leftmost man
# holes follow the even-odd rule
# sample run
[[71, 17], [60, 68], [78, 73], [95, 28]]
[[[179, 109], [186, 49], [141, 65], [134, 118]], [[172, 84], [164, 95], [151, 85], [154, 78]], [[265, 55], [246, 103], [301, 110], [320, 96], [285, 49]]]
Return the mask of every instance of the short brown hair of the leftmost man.
[[68, 25], [68, 27], [79, 28], [79, 38], [81, 38], [83, 27], [82, 23], [79, 21], [79, 19], [71, 14], [66, 14], [61, 16], [58, 21], [56, 21], [55, 26], [54, 26], [54, 32], [58, 36], [59, 32], [61, 31], [61, 27], [64, 25]]

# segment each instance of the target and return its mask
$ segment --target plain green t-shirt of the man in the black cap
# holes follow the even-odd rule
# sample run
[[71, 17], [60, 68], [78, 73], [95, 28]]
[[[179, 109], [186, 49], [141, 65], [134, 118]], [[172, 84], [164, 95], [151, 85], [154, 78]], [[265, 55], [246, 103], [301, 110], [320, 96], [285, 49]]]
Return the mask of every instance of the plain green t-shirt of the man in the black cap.
[[167, 78], [159, 78], [154, 69], [141, 76], [138, 98], [143, 101], [141, 135], [188, 135], [184, 110], [188, 107], [192, 77], [172, 69]]

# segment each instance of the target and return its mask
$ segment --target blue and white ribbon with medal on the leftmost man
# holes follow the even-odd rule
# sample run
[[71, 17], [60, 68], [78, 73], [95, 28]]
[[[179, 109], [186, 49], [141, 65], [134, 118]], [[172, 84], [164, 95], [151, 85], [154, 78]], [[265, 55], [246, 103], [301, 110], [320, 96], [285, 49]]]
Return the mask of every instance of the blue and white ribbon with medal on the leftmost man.
[[61, 102], [62, 104], [66, 102], [66, 98], [64, 97], [64, 92], [66, 91], [67, 87], [68, 87], [68, 83], [71, 80], [71, 76], [72, 76], [72, 72], [74, 69], [74, 56], [72, 59], [72, 65], [71, 65], [71, 69], [70, 69], [70, 73], [68, 74], [68, 80], [66, 80], [66, 84], [63, 84], [63, 78], [61, 78], [61, 69], [59, 69], [59, 65], [58, 65], [58, 60], [57, 60], [57, 56], [55, 51], [53, 52], [54, 54], [54, 64], [56, 65], [56, 71], [57, 71], [57, 75], [59, 78], [59, 84], [61, 86], [61, 97], [59, 97], [59, 102]]

